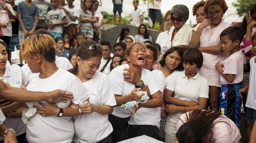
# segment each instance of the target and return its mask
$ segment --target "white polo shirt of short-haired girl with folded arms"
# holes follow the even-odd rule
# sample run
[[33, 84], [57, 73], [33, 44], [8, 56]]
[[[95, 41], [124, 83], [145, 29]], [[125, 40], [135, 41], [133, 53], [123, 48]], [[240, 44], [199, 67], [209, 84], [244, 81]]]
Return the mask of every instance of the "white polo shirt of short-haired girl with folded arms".
[[[186, 101], [198, 102], [199, 97], [208, 98], [209, 94], [207, 79], [197, 73], [188, 80], [185, 70], [171, 74], [166, 89], [174, 92], [174, 98]], [[174, 112], [168, 115], [167, 120], [178, 120], [182, 114], [183, 112]]]

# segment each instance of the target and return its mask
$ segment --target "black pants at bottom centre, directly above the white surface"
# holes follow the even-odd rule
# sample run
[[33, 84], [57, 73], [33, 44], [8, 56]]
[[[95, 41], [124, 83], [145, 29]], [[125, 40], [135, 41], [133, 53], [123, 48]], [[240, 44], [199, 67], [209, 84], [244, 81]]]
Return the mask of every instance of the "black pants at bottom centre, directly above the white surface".
[[158, 127], [153, 125], [129, 125], [127, 139], [141, 135], [147, 135], [156, 139], [158, 136]]

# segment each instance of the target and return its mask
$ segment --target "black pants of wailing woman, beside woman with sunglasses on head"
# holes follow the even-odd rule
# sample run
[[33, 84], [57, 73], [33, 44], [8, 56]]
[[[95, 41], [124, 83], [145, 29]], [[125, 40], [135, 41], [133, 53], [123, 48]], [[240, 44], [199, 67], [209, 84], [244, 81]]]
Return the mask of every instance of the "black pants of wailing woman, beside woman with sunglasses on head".
[[108, 120], [113, 127], [113, 132], [112, 132], [113, 142], [119, 142], [119, 141], [125, 140], [129, 118], [130, 117], [119, 118], [112, 114], [108, 114]]

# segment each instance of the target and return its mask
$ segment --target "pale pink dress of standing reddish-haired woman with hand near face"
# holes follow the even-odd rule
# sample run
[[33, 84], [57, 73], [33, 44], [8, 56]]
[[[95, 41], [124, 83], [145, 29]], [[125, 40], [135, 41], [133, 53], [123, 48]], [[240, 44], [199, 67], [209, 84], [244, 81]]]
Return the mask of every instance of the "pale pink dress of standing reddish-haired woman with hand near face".
[[[197, 24], [194, 31], [199, 27], [201, 23]], [[199, 40], [199, 47], [209, 47], [209, 46], [217, 46], [220, 42], [220, 33], [231, 26], [231, 24], [224, 23], [223, 21], [215, 28], [211, 28], [207, 26], [202, 30], [202, 34]], [[208, 82], [209, 86], [220, 86], [220, 73], [216, 70], [215, 64], [217, 62], [222, 62], [228, 55], [227, 53], [220, 53], [219, 55], [214, 54], [203, 54], [203, 66], [199, 70], [199, 74], [205, 77]]]

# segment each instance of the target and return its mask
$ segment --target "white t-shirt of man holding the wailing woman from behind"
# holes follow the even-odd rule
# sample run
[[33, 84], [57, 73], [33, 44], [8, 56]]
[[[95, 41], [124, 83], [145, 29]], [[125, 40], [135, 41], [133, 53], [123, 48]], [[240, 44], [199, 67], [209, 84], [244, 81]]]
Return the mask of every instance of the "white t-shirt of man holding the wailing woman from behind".
[[[165, 76], [160, 70], [151, 71], [155, 80], [157, 81], [161, 93], [163, 93], [165, 88]], [[143, 81], [144, 82], [144, 81]], [[130, 117], [128, 121], [129, 125], [153, 125], [160, 129], [160, 110], [161, 107], [156, 108], [140, 108], [134, 116]]]

